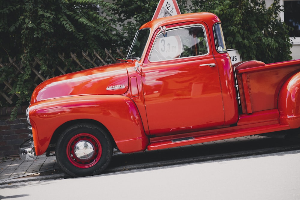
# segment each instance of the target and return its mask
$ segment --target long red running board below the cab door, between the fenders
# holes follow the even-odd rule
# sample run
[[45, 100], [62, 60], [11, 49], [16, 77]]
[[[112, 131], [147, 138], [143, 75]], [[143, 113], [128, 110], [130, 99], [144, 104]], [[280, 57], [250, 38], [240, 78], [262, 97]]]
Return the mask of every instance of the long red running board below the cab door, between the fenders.
[[216, 140], [249, 136], [249, 135], [257, 135], [262, 133], [268, 133], [268, 132], [274, 132], [280, 130], [289, 130], [289, 129], [290, 127], [288, 125], [274, 124], [274, 125], [260, 126], [260, 127], [247, 128], [247, 129], [238, 129], [238, 130], [224, 130], [224, 131], [212, 130], [215, 132], [202, 133], [202, 134], [201, 132], [197, 132], [198, 136], [194, 136], [194, 134], [196, 135], [196, 133], [190, 133], [190, 135], [193, 136], [183, 137], [183, 138], [174, 138], [173, 135], [170, 136], [170, 139], [165, 139], [162, 141], [156, 141], [150, 143], [147, 149], [157, 150], [157, 149], [164, 149], [164, 148], [172, 148], [172, 147], [179, 147], [184, 145], [193, 145], [193, 144], [198, 144], [203, 142], [211, 142]]

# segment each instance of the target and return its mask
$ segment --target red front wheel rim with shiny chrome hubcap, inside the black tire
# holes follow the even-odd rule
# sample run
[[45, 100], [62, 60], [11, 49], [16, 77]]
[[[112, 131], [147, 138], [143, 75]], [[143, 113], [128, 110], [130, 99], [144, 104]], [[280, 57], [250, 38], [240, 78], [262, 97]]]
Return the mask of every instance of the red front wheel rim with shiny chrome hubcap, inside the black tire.
[[100, 160], [101, 154], [101, 143], [89, 133], [80, 133], [67, 144], [67, 158], [78, 168], [94, 166]]

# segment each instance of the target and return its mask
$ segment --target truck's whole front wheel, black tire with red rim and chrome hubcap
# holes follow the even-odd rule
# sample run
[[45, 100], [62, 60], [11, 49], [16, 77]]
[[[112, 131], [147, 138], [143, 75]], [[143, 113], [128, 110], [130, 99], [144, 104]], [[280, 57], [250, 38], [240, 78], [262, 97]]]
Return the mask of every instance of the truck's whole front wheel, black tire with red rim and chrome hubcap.
[[67, 128], [55, 146], [58, 164], [71, 177], [100, 174], [109, 165], [112, 154], [108, 133], [93, 124]]

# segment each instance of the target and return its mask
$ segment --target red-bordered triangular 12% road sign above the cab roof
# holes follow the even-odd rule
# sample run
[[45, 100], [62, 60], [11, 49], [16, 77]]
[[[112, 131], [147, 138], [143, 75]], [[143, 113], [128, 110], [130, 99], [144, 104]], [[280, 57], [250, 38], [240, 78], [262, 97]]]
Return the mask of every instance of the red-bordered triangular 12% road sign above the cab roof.
[[160, 0], [152, 17], [152, 20], [179, 14], [181, 14], [181, 12], [176, 0]]

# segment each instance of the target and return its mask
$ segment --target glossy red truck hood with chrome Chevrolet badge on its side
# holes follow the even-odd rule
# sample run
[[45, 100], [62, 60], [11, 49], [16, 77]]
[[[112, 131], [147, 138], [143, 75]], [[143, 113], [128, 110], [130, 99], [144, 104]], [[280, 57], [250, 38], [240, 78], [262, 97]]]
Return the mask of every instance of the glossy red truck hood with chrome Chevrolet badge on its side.
[[131, 62], [110, 64], [48, 79], [35, 88], [30, 103], [67, 96], [125, 94], [127, 67], [133, 66]]

